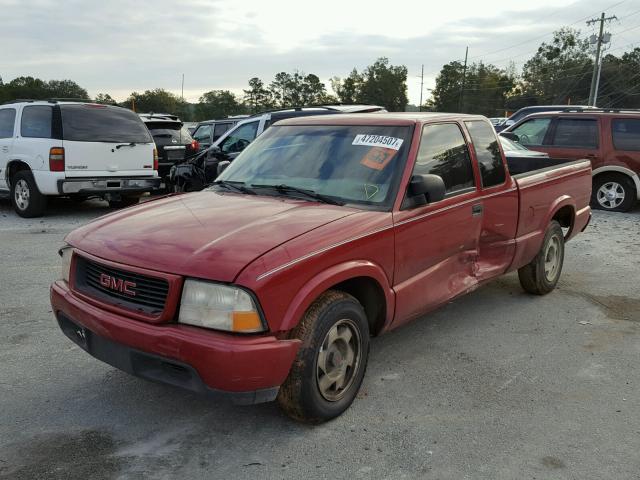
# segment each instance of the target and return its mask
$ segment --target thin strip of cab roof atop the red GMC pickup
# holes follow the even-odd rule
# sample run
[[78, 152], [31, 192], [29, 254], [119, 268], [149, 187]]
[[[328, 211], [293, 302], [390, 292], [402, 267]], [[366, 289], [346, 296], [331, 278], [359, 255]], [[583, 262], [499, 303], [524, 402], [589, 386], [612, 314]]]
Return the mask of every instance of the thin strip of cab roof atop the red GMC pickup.
[[488, 120], [482, 115], [465, 113], [398, 112], [346, 113], [296, 117], [280, 120], [278, 125], [415, 125], [446, 120]]

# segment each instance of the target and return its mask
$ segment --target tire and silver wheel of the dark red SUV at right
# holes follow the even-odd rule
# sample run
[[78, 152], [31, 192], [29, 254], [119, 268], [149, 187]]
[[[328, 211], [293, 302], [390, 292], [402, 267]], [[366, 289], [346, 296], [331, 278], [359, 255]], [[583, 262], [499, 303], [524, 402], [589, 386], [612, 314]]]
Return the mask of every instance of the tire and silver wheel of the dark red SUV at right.
[[605, 173], [593, 179], [591, 206], [609, 212], [628, 212], [638, 196], [633, 180], [622, 173]]

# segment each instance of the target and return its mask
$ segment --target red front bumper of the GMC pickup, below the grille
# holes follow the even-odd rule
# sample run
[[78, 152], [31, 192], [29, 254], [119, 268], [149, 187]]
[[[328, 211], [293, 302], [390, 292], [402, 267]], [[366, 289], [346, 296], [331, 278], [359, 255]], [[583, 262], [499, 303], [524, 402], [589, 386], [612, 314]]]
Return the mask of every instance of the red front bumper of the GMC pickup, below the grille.
[[298, 340], [132, 320], [84, 302], [62, 281], [50, 293], [60, 328], [92, 356], [142, 378], [237, 404], [274, 400], [299, 347]]

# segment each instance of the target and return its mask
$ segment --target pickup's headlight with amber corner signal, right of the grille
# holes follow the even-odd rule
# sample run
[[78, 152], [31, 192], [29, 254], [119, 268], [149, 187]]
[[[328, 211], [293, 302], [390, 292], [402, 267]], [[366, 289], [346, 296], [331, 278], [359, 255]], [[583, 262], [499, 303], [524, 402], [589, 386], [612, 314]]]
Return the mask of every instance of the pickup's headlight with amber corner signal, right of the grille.
[[258, 309], [247, 292], [190, 278], [184, 282], [178, 321], [229, 332], [264, 331]]

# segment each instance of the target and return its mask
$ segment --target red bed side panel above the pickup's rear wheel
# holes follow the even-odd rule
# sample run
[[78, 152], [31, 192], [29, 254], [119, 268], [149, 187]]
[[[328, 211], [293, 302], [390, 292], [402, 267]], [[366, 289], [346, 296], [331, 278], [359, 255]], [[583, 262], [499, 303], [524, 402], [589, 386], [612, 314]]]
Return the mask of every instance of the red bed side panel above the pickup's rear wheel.
[[589, 206], [591, 162], [578, 160], [561, 166], [515, 175], [518, 186], [518, 238], [543, 235], [555, 205], [568, 202], [576, 211]]

